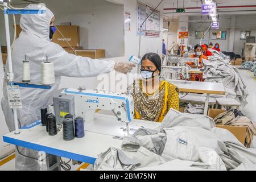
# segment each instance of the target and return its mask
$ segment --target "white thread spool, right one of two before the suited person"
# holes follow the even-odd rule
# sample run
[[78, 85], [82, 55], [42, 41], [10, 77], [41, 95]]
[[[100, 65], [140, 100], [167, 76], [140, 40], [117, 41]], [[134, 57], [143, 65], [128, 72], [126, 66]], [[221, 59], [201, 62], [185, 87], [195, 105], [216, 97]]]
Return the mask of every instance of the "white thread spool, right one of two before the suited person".
[[48, 61], [41, 63], [41, 84], [55, 84], [54, 64]]

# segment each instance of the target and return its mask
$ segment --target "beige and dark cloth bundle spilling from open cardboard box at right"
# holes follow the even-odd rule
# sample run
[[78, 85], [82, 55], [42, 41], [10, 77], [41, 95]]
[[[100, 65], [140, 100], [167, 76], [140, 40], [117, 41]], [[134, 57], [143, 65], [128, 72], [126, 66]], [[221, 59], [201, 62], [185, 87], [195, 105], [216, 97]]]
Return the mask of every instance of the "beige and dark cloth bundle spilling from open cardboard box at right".
[[219, 125], [247, 127], [245, 139], [246, 147], [250, 147], [251, 141], [253, 140], [254, 135], [256, 135], [256, 127], [254, 126], [254, 123], [249, 118], [246, 118], [241, 111], [236, 109], [230, 109], [217, 115], [214, 118], [214, 122]]

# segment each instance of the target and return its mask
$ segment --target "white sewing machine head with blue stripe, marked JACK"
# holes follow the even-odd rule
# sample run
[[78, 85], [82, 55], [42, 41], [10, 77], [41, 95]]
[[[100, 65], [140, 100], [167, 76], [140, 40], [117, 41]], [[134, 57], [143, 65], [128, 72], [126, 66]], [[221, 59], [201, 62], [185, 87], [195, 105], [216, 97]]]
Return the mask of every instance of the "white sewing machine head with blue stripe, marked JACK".
[[129, 123], [134, 118], [134, 101], [130, 94], [69, 88], [53, 97], [53, 105], [58, 124], [68, 113], [92, 122], [98, 109], [113, 111], [121, 122]]

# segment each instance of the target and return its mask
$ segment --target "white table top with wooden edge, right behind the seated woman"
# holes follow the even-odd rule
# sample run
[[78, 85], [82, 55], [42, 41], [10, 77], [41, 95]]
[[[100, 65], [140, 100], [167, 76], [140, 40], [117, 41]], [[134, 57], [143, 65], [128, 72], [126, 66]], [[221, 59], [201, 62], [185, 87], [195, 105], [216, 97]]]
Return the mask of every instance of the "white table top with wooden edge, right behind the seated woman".
[[189, 93], [208, 93], [208, 94], [225, 94], [225, 88], [222, 83], [187, 81], [184, 80], [167, 80], [176, 85], [180, 92]]

